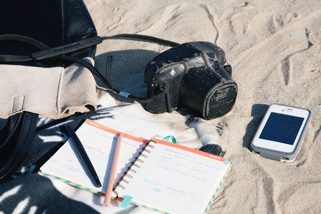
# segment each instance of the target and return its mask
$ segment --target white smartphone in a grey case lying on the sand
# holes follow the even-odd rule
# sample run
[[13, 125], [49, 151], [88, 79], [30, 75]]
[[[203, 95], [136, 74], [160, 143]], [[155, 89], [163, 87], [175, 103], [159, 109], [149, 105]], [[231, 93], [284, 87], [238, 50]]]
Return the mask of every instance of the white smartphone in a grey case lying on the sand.
[[250, 150], [265, 158], [294, 161], [310, 120], [311, 112], [307, 109], [271, 104], [255, 133]]

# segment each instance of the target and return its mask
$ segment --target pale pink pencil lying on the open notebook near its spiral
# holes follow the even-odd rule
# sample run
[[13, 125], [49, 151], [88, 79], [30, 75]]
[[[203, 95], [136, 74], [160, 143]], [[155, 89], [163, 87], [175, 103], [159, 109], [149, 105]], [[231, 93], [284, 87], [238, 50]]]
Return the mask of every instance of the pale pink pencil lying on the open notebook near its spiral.
[[123, 135], [122, 135], [122, 133], [120, 133], [120, 135], [118, 136], [118, 139], [117, 139], [117, 144], [116, 144], [116, 149], [115, 149], [115, 153], [114, 153], [112, 170], [111, 170], [111, 173], [109, 175], [108, 188], [107, 188], [106, 195], [105, 195], [105, 201], [103, 202], [103, 205], [105, 207], [108, 207], [110, 202], [111, 202], [113, 185], [114, 185], [114, 181], [115, 181], [115, 175], [116, 175], [116, 170], [117, 170], [118, 159], [119, 159], [120, 148], [121, 148], [122, 142], [123, 142]]

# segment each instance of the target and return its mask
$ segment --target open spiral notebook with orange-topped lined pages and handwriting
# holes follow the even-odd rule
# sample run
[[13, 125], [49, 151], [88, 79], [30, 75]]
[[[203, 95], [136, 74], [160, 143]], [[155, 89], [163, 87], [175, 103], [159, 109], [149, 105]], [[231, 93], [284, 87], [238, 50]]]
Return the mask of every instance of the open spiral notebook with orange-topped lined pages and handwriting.
[[[76, 131], [102, 183], [96, 188], [68, 140], [39, 174], [104, 196], [119, 131], [87, 119]], [[123, 133], [112, 199], [162, 213], [204, 213], [225, 180], [228, 159], [158, 139]]]

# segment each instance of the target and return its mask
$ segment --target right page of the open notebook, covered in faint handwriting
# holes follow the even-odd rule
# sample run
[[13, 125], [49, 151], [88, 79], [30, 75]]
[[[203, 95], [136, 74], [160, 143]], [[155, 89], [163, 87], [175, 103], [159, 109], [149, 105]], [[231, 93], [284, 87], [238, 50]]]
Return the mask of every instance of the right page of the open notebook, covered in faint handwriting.
[[[158, 140], [157, 140], [158, 141]], [[224, 157], [158, 141], [144, 152], [148, 157], [119, 196], [131, 196], [143, 205], [175, 213], [199, 213], [227, 170]], [[219, 159], [217, 159], [219, 158]], [[134, 167], [133, 169], [136, 170]], [[145, 201], [145, 203], [144, 203]], [[164, 209], [165, 208], [165, 209]]]

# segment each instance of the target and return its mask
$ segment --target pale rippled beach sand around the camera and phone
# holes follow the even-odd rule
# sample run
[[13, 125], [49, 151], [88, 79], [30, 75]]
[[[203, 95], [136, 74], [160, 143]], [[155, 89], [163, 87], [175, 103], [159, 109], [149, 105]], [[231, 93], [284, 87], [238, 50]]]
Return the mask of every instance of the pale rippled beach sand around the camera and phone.
[[[224, 49], [238, 85], [230, 113], [209, 121], [177, 112], [152, 115], [158, 124], [173, 128], [183, 145], [199, 148], [216, 143], [226, 150], [233, 168], [208, 213], [321, 212], [320, 1], [86, 0], [85, 4], [99, 36], [135, 33], [178, 43], [209, 41]], [[135, 40], [104, 41], [97, 48], [96, 67], [103, 71], [106, 57], [113, 55], [116, 86], [146, 95], [145, 66], [168, 48]], [[117, 100], [111, 106], [142, 108], [110, 97]], [[301, 150], [290, 163], [249, 150], [272, 103], [312, 112]]]

